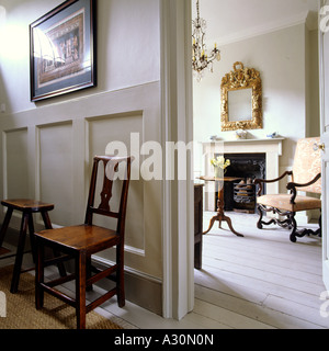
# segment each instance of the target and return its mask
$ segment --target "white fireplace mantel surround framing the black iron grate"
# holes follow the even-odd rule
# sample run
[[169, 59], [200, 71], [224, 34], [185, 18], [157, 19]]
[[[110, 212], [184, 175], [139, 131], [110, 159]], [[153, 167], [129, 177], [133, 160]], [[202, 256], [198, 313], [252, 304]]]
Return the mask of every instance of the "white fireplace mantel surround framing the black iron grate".
[[[266, 139], [237, 139], [223, 141], [202, 143], [204, 156], [204, 173], [206, 176], [214, 174], [214, 168], [211, 159], [215, 154], [265, 154], [266, 157], [266, 179], [275, 179], [279, 174], [279, 159], [282, 156], [282, 143], [284, 138], [266, 138]], [[205, 184], [205, 210], [214, 211], [214, 184], [208, 182]], [[277, 193], [279, 183], [266, 184], [266, 192]]]

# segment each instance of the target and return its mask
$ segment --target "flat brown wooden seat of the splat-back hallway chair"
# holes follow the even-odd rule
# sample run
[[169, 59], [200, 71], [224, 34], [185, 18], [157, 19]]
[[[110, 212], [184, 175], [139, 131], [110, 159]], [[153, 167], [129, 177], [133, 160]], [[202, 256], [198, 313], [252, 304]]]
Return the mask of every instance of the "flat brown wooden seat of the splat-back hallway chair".
[[49, 244], [70, 250], [86, 251], [89, 254], [99, 251], [100, 247], [111, 247], [120, 241], [115, 230], [90, 225], [78, 225], [58, 229], [42, 230], [35, 236]]

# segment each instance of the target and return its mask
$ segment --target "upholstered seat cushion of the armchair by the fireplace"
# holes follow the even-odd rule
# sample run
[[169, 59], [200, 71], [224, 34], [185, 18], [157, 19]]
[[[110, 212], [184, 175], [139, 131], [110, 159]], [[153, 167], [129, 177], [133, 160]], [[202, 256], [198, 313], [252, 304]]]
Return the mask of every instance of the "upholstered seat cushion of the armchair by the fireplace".
[[320, 199], [297, 195], [295, 199], [295, 204], [291, 204], [291, 197], [292, 195], [290, 194], [269, 194], [259, 196], [257, 199], [257, 203], [290, 212], [321, 208]]

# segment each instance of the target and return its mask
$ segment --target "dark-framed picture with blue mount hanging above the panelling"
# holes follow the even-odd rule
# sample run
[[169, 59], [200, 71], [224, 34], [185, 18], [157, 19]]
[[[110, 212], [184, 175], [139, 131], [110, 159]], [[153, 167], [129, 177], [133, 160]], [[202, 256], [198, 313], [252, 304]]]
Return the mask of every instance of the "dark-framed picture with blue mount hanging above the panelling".
[[97, 86], [95, 0], [68, 0], [30, 24], [31, 101]]

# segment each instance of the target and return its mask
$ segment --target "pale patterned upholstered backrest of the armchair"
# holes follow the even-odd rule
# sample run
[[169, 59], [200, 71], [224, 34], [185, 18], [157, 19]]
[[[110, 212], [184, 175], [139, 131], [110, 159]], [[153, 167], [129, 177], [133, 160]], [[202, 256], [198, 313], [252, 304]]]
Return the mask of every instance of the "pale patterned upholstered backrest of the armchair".
[[[320, 137], [305, 138], [297, 141], [293, 166], [293, 181], [298, 184], [310, 182], [318, 173], [321, 173], [321, 154], [315, 144], [320, 144]], [[298, 188], [298, 191], [321, 193], [321, 178], [311, 185]]]

